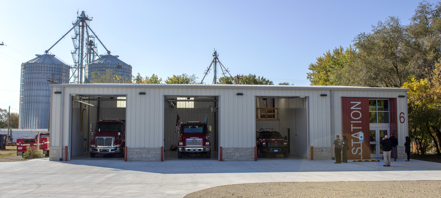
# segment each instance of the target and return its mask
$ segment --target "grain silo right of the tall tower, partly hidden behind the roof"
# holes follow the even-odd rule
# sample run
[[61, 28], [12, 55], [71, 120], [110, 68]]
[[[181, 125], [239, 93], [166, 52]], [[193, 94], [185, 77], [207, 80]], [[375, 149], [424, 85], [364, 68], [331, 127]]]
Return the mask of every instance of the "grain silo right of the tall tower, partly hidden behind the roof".
[[[112, 75], [118, 75], [125, 81], [129, 81], [132, 75], [132, 67], [130, 64], [118, 59], [118, 55], [101, 55], [100, 58], [93, 60], [86, 64], [85, 67], [85, 81], [89, 83], [92, 80], [92, 73], [96, 72], [98, 75], [105, 74], [112, 71]], [[110, 82], [109, 82], [110, 83]]]

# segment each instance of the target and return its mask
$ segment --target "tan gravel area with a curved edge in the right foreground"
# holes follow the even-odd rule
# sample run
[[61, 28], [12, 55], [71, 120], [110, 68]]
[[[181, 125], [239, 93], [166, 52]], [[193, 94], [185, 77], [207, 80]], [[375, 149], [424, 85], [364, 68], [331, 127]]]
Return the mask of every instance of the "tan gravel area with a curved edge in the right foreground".
[[207, 188], [184, 197], [441, 197], [441, 181], [242, 183]]

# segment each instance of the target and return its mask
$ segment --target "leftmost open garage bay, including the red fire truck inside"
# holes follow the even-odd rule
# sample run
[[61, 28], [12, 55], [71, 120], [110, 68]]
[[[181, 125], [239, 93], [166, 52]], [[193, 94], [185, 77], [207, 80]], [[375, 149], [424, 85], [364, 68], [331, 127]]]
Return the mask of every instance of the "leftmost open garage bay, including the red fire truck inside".
[[71, 104], [70, 159], [124, 160], [126, 95], [71, 95]]

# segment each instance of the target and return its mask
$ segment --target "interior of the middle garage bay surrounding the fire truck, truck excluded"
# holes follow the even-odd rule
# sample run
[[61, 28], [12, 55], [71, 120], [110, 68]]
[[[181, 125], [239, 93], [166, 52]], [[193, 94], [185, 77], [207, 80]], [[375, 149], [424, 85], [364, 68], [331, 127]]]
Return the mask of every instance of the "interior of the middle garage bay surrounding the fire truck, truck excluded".
[[[188, 121], [204, 122], [211, 128], [210, 150], [212, 159], [217, 156], [219, 147], [219, 96], [164, 96], [164, 148], [169, 150], [173, 144], [177, 145], [179, 134], [175, 133], [176, 120], [179, 115], [183, 123]], [[174, 151], [173, 151], [174, 152]], [[176, 155], [172, 155], [177, 158]]]

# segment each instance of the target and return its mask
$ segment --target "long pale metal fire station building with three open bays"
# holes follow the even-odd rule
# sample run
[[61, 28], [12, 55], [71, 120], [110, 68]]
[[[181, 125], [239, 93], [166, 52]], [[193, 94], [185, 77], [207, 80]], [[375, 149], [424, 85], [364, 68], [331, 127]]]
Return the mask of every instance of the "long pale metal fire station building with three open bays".
[[408, 89], [165, 84], [51, 88], [50, 160], [88, 158], [92, 128], [102, 119], [125, 121], [127, 161], [185, 160], [170, 151], [179, 138], [178, 116], [182, 122], [208, 123], [211, 160], [255, 160], [260, 128], [274, 128], [287, 137], [289, 158], [330, 160], [336, 135], [348, 138], [348, 159], [380, 158], [379, 141], [390, 134], [398, 138], [398, 157], [405, 157]]

